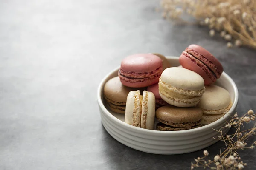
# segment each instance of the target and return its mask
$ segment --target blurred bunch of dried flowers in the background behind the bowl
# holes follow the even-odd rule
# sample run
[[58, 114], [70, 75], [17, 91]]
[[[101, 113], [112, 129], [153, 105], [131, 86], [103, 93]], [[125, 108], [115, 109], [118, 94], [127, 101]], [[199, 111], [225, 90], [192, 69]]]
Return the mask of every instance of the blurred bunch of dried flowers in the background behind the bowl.
[[210, 28], [211, 37], [220, 32], [229, 48], [231, 40], [237, 47], [256, 48], [255, 0], [161, 0], [161, 6], [164, 18], [181, 19], [182, 14], [189, 14]]

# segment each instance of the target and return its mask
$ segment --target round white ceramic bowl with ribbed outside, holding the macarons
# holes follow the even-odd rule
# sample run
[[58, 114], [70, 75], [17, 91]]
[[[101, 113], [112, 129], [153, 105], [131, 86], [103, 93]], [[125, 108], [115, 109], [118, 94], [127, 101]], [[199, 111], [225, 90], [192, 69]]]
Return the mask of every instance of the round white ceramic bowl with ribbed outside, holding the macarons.
[[[167, 57], [167, 59], [174, 67], [180, 65], [178, 57]], [[156, 154], [180, 154], [201, 150], [217, 142], [212, 137], [218, 137], [219, 133], [213, 129], [218, 130], [223, 127], [225, 120], [229, 121], [231, 116], [235, 114], [238, 102], [238, 90], [235, 82], [223, 72], [215, 85], [227, 89], [233, 102], [229, 114], [226, 114], [223, 118], [203, 127], [180, 131], [148, 130], [128, 125], [124, 122], [125, 115], [111, 111], [105, 104], [103, 98], [105, 83], [109, 79], [116, 77], [118, 70], [119, 68], [116, 68], [104, 77], [99, 84], [97, 97], [102, 125], [114, 139], [128, 147]], [[228, 128], [224, 129], [224, 134], [228, 130]]]

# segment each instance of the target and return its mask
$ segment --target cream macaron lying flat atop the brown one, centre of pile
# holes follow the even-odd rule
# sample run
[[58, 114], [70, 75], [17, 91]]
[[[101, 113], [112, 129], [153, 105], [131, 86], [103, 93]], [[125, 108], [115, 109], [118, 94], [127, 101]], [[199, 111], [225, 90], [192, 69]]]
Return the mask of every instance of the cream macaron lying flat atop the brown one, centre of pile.
[[166, 68], [159, 79], [159, 94], [177, 107], [192, 107], [204, 94], [204, 79], [186, 68]]

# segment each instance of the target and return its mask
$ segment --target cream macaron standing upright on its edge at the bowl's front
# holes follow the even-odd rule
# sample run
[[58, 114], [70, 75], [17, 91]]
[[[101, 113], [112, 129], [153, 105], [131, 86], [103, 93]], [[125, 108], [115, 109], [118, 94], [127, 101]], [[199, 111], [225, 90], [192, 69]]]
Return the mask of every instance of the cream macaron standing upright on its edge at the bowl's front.
[[155, 96], [152, 92], [130, 91], [126, 100], [125, 123], [144, 129], [154, 128]]

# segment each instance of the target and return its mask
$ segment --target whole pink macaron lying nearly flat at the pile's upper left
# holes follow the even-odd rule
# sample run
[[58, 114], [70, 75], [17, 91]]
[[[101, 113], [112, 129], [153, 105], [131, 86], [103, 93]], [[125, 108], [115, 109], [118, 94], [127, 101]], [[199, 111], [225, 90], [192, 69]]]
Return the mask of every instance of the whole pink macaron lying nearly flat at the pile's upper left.
[[121, 62], [118, 76], [123, 85], [133, 88], [147, 87], [159, 81], [163, 61], [154, 54], [134, 54]]

